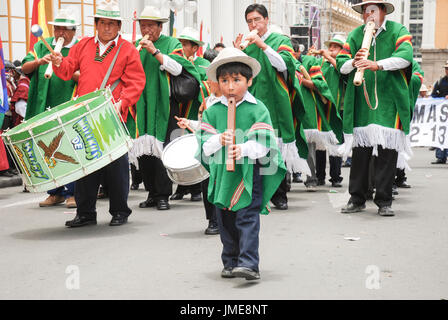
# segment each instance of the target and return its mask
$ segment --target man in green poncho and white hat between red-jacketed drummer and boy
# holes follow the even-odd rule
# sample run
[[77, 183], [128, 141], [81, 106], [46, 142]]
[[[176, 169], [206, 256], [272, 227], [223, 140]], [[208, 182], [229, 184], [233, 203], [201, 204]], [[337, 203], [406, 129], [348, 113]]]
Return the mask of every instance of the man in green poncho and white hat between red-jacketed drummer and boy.
[[[148, 39], [137, 41], [141, 45], [140, 58], [146, 74], [146, 86], [136, 106], [135, 117], [129, 117], [127, 125], [136, 140], [131, 151], [131, 162], [142, 172], [149, 193], [140, 208], [170, 208], [168, 198], [172, 194], [172, 182], [163, 166], [163, 148], [170, 142], [171, 134], [178, 128], [174, 116], [181, 116], [179, 102], [170, 92], [170, 78], [188, 72], [198, 82], [200, 76], [195, 66], [188, 61], [182, 44], [173, 37], [162, 34], [163, 23], [169, 19], [161, 17], [160, 10], [147, 6], [138, 18], [140, 30]], [[134, 120], [134, 121], [132, 121]]]

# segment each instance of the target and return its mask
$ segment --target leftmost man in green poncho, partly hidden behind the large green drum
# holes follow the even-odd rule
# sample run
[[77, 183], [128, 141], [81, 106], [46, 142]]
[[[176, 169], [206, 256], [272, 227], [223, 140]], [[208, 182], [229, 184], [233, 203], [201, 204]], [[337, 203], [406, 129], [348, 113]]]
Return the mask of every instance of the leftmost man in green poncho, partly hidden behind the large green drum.
[[[65, 9], [59, 10], [54, 21], [50, 21], [48, 24], [53, 25], [54, 37], [47, 38], [47, 42], [54, 49], [57, 39], [62, 37], [64, 44], [61, 54], [66, 57], [70, 49], [78, 42], [75, 34], [76, 26], [79, 24], [72, 14]], [[42, 40], [34, 45], [34, 50], [30, 51], [22, 61], [22, 71], [31, 79], [25, 120], [44, 112], [47, 107], [52, 108], [60, 105], [73, 96], [79, 72], [75, 72], [68, 81], [64, 81], [56, 75], [46, 79], [44, 75], [49, 63], [50, 51]], [[72, 182], [50, 190], [47, 199], [40, 202], [39, 206], [52, 207], [66, 201], [65, 204], [68, 208], [76, 208], [74, 189], [75, 183]]]

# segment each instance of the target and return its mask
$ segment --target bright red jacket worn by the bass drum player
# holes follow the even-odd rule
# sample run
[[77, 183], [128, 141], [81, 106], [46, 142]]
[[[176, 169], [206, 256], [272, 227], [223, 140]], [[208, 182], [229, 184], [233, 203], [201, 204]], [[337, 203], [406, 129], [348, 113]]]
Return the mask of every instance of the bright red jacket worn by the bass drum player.
[[106, 86], [120, 79], [112, 92], [116, 102], [121, 100], [121, 114], [126, 122], [129, 107], [137, 103], [145, 87], [146, 78], [140, 55], [135, 46], [120, 36], [117, 45], [102, 62], [95, 61], [98, 43], [95, 37], [84, 38], [75, 44], [59, 67], [53, 66], [54, 73], [62, 80], [70, 80], [80, 71], [76, 94], [79, 96], [99, 89], [118, 48], [123, 43]]

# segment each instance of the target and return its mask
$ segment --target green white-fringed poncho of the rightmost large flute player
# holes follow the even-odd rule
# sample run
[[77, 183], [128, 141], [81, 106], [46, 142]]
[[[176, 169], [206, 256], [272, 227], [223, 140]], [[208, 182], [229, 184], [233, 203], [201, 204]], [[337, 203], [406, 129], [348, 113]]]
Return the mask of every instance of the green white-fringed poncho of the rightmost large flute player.
[[[386, 30], [373, 41], [368, 59], [376, 58], [376, 61], [379, 61], [396, 57], [412, 63], [412, 36], [408, 30], [392, 21], [387, 21], [385, 26]], [[361, 48], [364, 27], [365, 25], [362, 25], [349, 34], [336, 59], [339, 70]], [[349, 74], [344, 99], [343, 123], [346, 143], [349, 142], [348, 145], [353, 147], [374, 147], [374, 153], [378, 146], [382, 146], [406, 152], [408, 155], [412, 154], [407, 137], [411, 120], [410, 71], [366, 70], [364, 78], [367, 94], [364, 93], [363, 85], [356, 87], [353, 84], [355, 73], [356, 69]], [[370, 107], [367, 99], [370, 100]], [[378, 108], [373, 110], [377, 103]], [[348, 150], [349, 147], [346, 148], [346, 154]]]

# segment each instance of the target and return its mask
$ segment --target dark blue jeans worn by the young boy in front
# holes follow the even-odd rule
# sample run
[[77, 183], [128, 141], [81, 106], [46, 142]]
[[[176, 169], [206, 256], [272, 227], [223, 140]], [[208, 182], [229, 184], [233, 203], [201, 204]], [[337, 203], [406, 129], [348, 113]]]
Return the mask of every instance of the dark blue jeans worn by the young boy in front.
[[252, 203], [236, 212], [216, 208], [221, 259], [225, 268], [246, 267], [258, 272], [260, 211], [263, 200], [260, 166], [254, 165]]

